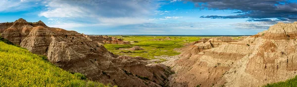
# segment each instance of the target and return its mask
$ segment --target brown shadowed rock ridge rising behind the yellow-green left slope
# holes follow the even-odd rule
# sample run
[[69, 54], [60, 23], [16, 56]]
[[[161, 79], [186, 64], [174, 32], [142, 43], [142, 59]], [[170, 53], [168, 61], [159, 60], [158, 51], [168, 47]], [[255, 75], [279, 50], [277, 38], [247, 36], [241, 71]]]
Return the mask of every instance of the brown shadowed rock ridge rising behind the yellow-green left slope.
[[[49, 28], [43, 22], [0, 24], [1, 36], [59, 67], [86, 75], [90, 80], [119, 87], [161, 87], [171, 73], [163, 64], [144, 58], [118, 57], [76, 31]], [[7, 29], [5, 29], [7, 28]]]

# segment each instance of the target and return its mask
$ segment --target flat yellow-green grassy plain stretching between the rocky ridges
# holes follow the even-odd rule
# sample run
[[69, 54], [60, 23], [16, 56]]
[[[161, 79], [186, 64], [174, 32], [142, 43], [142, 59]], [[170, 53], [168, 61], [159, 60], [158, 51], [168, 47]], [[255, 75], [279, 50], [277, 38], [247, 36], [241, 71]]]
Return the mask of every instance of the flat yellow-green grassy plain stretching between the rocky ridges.
[[[115, 36], [125, 41], [131, 41], [132, 45], [105, 44], [104, 47], [117, 55], [127, 55], [132, 57], [144, 57], [155, 59], [155, 56], [175, 56], [179, 52], [175, 48], [182, 48], [185, 43], [198, 41], [198, 36]], [[169, 38], [170, 39], [169, 39]], [[133, 46], [140, 46], [144, 50], [129, 51], [127, 49]]]

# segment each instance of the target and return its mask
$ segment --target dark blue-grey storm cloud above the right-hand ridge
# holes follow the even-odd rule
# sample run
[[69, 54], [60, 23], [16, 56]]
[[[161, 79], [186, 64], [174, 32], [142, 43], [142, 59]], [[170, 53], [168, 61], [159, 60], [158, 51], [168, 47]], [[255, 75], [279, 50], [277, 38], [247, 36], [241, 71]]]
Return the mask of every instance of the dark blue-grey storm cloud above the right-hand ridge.
[[[200, 18], [234, 19], [250, 18], [265, 19], [279, 18], [290, 21], [297, 20], [297, 3], [290, 0], [187, 0], [196, 3], [200, 9], [209, 10], [239, 10], [238, 15], [219, 16], [208, 15]], [[258, 21], [258, 20], [253, 20]], [[260, 20], [259, 20], [260, 21]], [[262, 20], [268, 21], [268, 20]]]

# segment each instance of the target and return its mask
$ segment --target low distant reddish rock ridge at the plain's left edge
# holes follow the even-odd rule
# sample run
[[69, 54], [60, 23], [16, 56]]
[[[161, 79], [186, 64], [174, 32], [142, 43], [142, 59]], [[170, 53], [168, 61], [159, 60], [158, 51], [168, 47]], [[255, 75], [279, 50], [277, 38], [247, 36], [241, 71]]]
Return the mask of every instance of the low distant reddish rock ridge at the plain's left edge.
[[120, 38], [116, 38], [116, 37], [109, 37], [107, 35], [105, 35], [105, 36], [85, 35], [85, 34], [83, 34], [83, 35], [91, 41], [95, 41], [95, 42], [102, 43], [102, 44], [131, 44], [128, 41], [124, 41], [124, 40], [122, 40]]

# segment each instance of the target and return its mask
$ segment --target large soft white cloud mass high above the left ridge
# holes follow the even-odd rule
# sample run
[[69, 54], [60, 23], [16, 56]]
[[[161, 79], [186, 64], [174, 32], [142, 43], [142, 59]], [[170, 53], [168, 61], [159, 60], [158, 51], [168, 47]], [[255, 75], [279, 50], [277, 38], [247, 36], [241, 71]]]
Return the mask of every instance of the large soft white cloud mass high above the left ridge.
[[[149, 0], [48, 0], [39, 16], [57, 25], [88, 21], [98, 26], [122, 26], [150, 22], [148, 16], [156, 6]], [[62, 19], [52, 20], [57, 18]]]

